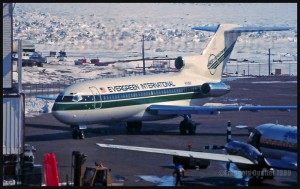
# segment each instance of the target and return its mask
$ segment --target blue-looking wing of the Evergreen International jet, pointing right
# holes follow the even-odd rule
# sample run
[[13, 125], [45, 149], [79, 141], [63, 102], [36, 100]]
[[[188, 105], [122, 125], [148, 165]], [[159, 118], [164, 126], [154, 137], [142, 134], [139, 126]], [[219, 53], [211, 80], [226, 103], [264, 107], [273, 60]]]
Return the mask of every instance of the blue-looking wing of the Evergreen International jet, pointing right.
[[149, 113], [154, 115], [182, 115], [182, 114], [214, 114], [218, 111], [260, 111], [281, 110], [289, 111], [297, 109], [297, 106], [172, 106], [172, 105], [150, 105]]

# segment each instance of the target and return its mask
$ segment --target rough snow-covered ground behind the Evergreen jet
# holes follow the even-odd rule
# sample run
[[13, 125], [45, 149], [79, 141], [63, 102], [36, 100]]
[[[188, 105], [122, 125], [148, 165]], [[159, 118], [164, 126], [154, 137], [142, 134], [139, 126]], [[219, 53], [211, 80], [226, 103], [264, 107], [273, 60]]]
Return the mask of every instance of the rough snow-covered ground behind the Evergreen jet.
[[[42, 68], [23, 67], [23, 83], [123, 74], [142, 63], [75, 66], [74, 60], [141, 58], [142, 35], [146, 57], [199, 54], [213, 33], [191, 28], [220, 23], [293, 27], [283, 32], [243, 34], [231, 58], [266, 63], [271, 48], [272, 59], [297, 60], [296, 3], [17, 3], [13, 14], [13, 40], [30, 41], [43, 55], [64, 49], [68, 56], [64, 62], [54, 61]], [[16, 76], [14, 73], [15, 80]], [[28, 112], [41, 111], [44, 105], [43, 100], [26, 101]]]

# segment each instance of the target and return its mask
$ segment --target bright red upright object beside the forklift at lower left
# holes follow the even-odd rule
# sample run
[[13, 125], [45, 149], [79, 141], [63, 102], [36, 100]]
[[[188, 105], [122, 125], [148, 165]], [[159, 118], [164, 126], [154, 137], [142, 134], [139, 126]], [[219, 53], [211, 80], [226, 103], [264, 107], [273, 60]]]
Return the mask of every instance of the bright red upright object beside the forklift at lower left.
[[44, 154], [44, 175], [46, 186], [59, 186], [57, 162], [53, 153]]

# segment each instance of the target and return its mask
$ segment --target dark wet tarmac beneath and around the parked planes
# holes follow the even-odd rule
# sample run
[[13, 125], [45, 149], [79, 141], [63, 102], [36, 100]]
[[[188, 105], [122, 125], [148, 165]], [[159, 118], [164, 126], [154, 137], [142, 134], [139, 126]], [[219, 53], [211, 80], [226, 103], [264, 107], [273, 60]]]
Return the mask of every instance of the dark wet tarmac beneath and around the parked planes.
[[[256, 78], [228, 79], [231, 92], [214, 98], [213, 103], [238, 103], [252, 105], [297, 105], [297, 77], [270, 76]], [[111, 168], [114, 182], [124, 186], [174, 186], [172, 156], [144, 152], [100, 148], [96, 143], [156, 147], [223, 153], [222, 150], [207, 151], [204, 146], [224, 145], [226, 126], [230, 120], [232, 139], [245, 141], [248, 131], [237, 129], [236, 125], [251, 127], [264, 123], [278, 123], [297, 126], [297, 111], [221, 112], [216, 115], [192, 115], [198, 123], [195, 135], [180, 135], [178, 125], [181, 117], [143, 122], [141, 133], [128, 134], [125, 123], [97, 124], [88, 126], [84, 140], [74, 140], [68, 125], [60, 123], [51, 114], [25, 118], [25, 143], [33, 145], [35, 164], [43, 164], [45, 153], [54, 153], [61, 183], [72, 182], [72, 152], [87, 155], [85, 166], [93, 167], [102, 162]], [[232, 165], [234, 166], [234, 165]], [[297, 186], [297, 172], [275, 174], [273, 180], [265, 180], [265, 186]], [[187, 169], [184, 186], [247, 186], [247, 178], [238, 171], [225, 174], [225, 163], [211, 161], [207, 169]], [[67, 177], [69, 178], [67, 180]], [[44, 182], [44, 180], [43, 180]]]

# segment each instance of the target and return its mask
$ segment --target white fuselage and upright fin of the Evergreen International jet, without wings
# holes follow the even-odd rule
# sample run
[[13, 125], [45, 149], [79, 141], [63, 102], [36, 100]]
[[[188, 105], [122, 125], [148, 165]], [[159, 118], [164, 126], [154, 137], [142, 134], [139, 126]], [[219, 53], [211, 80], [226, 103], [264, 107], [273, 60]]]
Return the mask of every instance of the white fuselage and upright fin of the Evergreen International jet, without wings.
[[[210, 96], [202, 93], [201, 86], [221, 81], [223, 68], [240, 35], [240, 32], [226, 31], [236, 27], [239, 26], [219, 25], [201, 55], [184, 59], [179, 56], [175, 60], [176, 68], [180, 69], [178, 73], [97, 79], [71, 85], [56, 99], [53, 115], [61, 122], [76, 125], [121, 120], [149, 121], [175, 116], [148, 113], [147, 108], [153, 104], [203, 105]], [[207, 86], [204, 88], [207, 89]], [[218, 84], [215, 87], [218, 91]], [[225, 86], [223, 91], [227, 93], [229, 89]], [[221, 96], [223, 91], [212, 96]]]

